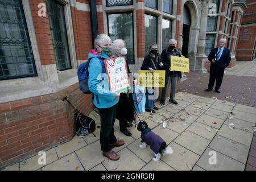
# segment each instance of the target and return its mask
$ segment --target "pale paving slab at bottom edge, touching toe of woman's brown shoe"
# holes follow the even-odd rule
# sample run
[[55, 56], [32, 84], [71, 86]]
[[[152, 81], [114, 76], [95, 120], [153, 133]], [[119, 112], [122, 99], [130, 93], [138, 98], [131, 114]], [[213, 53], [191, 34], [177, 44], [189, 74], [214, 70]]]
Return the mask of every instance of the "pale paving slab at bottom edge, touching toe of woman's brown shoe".
[[108, 171], [138, 171], [146, 165], [143, 160], [139, 159], [128, 148], [124, 148], [117, 154], [120, 156], [119, 160], [108, 159], [102, 163]]

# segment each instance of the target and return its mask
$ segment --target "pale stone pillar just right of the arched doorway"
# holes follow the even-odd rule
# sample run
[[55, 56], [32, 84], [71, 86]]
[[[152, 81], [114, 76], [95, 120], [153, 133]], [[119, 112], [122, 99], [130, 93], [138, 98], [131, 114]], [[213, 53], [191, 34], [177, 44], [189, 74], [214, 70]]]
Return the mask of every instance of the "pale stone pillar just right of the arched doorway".
[[195, 69], [195, 72], [199, 72], [199, 73], [207, 73], [207, 69], [205, 69], [205, 61], [207, 61], [207, 55], [205, 55], [204, 50], [205, 50], [205, 37], [207, 32], [208, 7], [209, 7], [209, 0], [203, 0], [201, 3], [201, 20], [200, 20], [197, 54], [196, 54], [196, 69]]

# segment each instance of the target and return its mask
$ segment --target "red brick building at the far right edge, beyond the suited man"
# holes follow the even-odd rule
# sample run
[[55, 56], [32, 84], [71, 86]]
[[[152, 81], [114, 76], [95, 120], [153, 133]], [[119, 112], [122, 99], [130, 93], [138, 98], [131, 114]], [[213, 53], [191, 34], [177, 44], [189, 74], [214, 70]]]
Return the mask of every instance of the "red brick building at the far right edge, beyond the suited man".
[[256, 2], [246, 1], [248, 9], [242, 18], [236, 57], [238, 61], [256, 59]]

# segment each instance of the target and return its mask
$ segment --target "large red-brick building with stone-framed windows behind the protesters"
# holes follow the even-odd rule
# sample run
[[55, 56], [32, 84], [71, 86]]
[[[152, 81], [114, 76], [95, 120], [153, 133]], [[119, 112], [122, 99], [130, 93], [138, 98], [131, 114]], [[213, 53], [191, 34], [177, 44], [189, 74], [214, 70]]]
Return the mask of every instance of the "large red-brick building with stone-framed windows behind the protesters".
[[61, 97], [84, 114], [92, 110], [76, 73], [97, 34], [126, 41], [134, 73], [151, 43], [162, 51], [171, 38], [191, 71], [205, 73], [220, 38], [228, 39], [230, 65], [236, 63], [245, 9], [244, 1], [233, 0], [0, 1], [0, 168], [75, 134], [72, 108]]

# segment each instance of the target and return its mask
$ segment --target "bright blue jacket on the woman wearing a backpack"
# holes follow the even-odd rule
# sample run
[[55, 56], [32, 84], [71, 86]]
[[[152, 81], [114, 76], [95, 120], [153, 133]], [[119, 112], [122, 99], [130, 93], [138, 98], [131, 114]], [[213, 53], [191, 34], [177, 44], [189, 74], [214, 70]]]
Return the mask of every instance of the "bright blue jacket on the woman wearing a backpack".
[[109, 56], [91, 50], [88, 59], [91, 59], [88, 68], [88, 85], [90, 92], [94, 93], [93, 104], [100, 109], [114, 106], [119, 101], [119, 97], [115, 98], [115, 93], [110, 92], [108, 77], [106, 73], [101, 73], [100, 59], [109, 59]]

